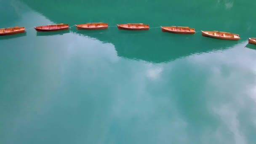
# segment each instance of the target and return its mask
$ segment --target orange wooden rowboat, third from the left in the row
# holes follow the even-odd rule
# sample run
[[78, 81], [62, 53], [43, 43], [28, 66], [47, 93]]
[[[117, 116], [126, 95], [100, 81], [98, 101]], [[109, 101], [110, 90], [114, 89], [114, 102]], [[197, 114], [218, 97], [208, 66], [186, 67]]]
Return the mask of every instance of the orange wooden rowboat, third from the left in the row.
[[75, 27], [77, 29], [84, 29], [84, 30], [97, 30], [97, 29], [107, 29], [107, 23], [86, 23], [86, 24], [76, 24]]

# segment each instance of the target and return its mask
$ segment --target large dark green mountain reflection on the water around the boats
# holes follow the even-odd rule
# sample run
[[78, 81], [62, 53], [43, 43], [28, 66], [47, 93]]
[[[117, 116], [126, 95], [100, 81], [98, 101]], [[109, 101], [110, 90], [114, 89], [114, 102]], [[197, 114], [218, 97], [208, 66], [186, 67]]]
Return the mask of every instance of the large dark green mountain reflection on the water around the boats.
[[[193, 54], [224, 51], [241, 43], [247, 39], [247, 35], [252, 35], [256, 31], [256, 27], [252, 27], [256, 20], [245, 17], [248, 13], [253, 13], [255, 4], [247, 5], [248, 7], [244, 8], [243, 5], [246, 2], [241, 5], [240, 2], [235, 0], [232, 1], [233, 5], [230, 8], [226, 8], [224, 4], [215, 1], [206, 3], [204, 0], [196, 0], [195, 3], [184, 5], [184, 8], [189, 9], [188, 11], [181, 11], [179, 7], [176, 7], [176, 5], [180, 4], [179, 1], [157, 3], [157, 5], [153, 1], [142, 2], [138, 5], [126, 1], [109, 3], [104, 0], [99, 0], [97, 3], [93, 0], [86, 2], [81, 0], [74, 0], [72, 2], [68, 0], [20, 1], [35, 11], [42, 13], [43, 16], [54, 23], [67, 23], [72, 26], [87, 22], [107, 22], [111, 26], [108, 29], [88, 31], [77, 30], [75, 27], [72, 27], [70, 31], [77, 35], [95, 38], [103, 43], [112, 43], [115, 45], [117, 55], [120, 57], [154, 63], [173, 61]], [[144, 7], [144, 3], [147, 3], [149, 6]], [[223, 3], [226, 3], [226, 1]], [[56, 8], [56, 5], [61, 7], [61, 9]], [[172, 11], [165, 12], [166, 16], [172, 16], [171, 19], [166, 19], [165, 16], [162, 16], [163, 11], [156, 11], [152, 16], [144, 16], [144, 11], [152, 11], [152, 8], [155, 6], [162, 9], [171, 8], [172, 11], [176, 11], [178, 14], [173, 15]], [[110, 10], [112, 7], [115, 7], [115, 10]], [[144, 10], [138, 15], [141, 7]], [[133, 11], [123, 13], [128, 8], [133, 8]], [[234, 15], [233, 13], [237, 9], [241, 11], [239, 15]], [[81, 11], [86, 14], [81, 13]], [[98, 13], [97, 11], [104, 11], [104, 13]], [[191, 15], [189, 11], [194, 12]], [[181, 16], [185, 15], [189, 16], [186, 19], [180, 19]], [[178, 21], [175, 21], [175, 19]], [[234, 19], [238, 22], [234, 22]], [[141, 32], [118, 30], [117, 27], [114, 27], [117, 22], [119, 24], [144, 23], [149, 24], [149, 27], [152, 29]], [[195, 28], [197, 33], [195, 35], [165, 33], [161, 32], [160, 28], [156, 28], [161, 25], [189, 26]], [[232, 32], [239, 34], [241, 39], [239, 41], [229, 41], [202, 37], [200, 30]]]

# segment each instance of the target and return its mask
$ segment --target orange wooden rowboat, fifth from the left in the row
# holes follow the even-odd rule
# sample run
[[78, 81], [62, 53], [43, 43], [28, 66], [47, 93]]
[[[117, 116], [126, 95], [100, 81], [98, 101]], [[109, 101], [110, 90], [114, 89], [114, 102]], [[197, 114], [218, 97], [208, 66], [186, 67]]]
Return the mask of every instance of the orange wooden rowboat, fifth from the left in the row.
[[175, 34], [195, 34], [195, 29], [189, 27], [161, 27], [161, 30], [162, 32], [171, 32]]

